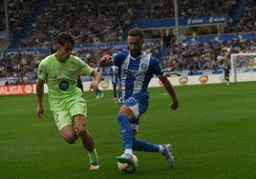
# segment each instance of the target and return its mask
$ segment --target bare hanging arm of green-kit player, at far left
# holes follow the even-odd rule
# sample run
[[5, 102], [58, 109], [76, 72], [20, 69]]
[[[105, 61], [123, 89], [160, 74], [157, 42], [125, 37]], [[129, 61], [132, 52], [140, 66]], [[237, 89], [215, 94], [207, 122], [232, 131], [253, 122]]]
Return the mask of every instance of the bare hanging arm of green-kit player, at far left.
[[44, 107], [43, 107], [43, 96], [44, 96], [44, 81], [40, 78], [36, 79], [36, 96], [38, 101], [38, 106], [36, 109], [37, 117], [42, 117], [44, 114]]

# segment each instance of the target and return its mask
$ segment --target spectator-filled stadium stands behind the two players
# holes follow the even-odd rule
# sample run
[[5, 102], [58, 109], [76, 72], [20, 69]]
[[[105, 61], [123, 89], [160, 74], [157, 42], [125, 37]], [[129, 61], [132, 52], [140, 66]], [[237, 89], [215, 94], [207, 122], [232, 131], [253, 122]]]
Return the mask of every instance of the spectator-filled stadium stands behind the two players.
[[255, 13], [255, 0], [2, 0], [0, 84], [33, 84], [62, 30], [87, 63], [126, 49], [127, 31], [141, 28], [170, 75], [222, 73], [230, 54], [256, 51]]

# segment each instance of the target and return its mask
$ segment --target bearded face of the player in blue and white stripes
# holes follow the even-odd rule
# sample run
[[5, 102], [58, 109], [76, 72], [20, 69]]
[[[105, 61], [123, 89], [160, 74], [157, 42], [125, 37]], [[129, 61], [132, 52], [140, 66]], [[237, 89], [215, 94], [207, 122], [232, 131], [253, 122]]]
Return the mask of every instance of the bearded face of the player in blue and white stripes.
[[143, 39], [139, 36], [128, 36], [128, 46], [132, 57], [137, 58], [141, 54]]

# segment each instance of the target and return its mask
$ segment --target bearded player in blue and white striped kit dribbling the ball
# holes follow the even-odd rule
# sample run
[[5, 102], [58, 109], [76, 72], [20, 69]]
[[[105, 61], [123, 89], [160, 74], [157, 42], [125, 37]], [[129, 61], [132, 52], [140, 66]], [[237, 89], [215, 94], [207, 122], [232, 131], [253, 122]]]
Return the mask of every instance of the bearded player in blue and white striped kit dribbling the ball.
[[124, 153], [117, 157], [120, 163], [134, 165], [133, 150], [160, 152], [168, 161], [171, 168], [174, 167], [174, 157], [171, 154], [171, 145], [152, 144], [136, 139], [139, 129], [139, 116], [148, 109], [148, 84], [156, 75], [172, 98], [171, 109], [178, 109], [179, 103], [175, 90], [164, 71], [160, 61], [142, 50], [143, 31], [130, 30], [128, 33], [128, 49], [118, 51], [114, 55], [103, 55], [98, 62], [100, 67], [116, 65], [121, 81], [123, 102], [117, 114], [119, 131], [122, 136]]

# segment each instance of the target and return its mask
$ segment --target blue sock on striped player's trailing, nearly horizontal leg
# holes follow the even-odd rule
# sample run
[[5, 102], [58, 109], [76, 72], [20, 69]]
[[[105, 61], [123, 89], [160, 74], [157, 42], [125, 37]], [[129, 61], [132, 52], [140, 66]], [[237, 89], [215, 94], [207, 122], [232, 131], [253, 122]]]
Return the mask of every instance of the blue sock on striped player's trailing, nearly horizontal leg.
[[151, 144], [139, 139], [133, 140], [133, 149], [138, 151], [160, 152], [160, 145]]

